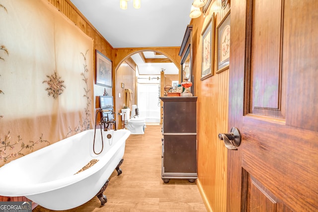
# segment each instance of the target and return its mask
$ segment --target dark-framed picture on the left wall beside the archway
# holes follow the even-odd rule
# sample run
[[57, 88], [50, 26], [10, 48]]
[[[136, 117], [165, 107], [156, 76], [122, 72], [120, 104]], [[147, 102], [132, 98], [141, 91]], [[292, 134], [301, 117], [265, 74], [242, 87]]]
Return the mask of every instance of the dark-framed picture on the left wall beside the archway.
[[96, 84], [113, 86], [112, 62], [96, 50]]

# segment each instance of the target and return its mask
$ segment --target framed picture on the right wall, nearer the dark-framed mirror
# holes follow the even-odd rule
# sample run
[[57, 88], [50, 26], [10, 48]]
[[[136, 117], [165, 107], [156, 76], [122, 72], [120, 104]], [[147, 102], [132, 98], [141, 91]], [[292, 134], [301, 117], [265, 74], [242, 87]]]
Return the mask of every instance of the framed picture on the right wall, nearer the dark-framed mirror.
[[213, 75], [214, 67], [214, 13], [201, 33], [202, 40], [202, 65], [201, 80]]

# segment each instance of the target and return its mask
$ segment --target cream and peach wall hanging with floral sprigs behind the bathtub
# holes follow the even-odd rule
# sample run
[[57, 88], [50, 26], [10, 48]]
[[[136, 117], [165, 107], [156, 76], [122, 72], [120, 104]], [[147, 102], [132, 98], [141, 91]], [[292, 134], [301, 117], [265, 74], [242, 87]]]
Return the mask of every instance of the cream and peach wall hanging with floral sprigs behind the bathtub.
[[[47, 0], [0, 0], [0, 166], [93, 123], [93, 40]], [[31, 165], [31, 164], [30, 164]]]

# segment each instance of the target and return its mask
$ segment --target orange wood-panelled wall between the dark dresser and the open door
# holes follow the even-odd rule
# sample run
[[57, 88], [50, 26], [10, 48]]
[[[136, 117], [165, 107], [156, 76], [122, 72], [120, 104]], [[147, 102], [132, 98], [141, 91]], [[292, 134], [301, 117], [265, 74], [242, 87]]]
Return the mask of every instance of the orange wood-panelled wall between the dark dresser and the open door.
[[[213, 1], [213, 0], [212, 0]], [[226, 211], [227, 148], [218, 139], [219, 133], [228, 132], [229, 69], [200, 80], [202, 62], [201, 32], [215, 15], [215, 30], [230, 10], [230, 4], [222, 9], [221, 0], [211, 2], [205, 17], [192, 19], [193, 24], [193, 69], [195, 74], [195, 95], [197, 103], [198, 129], [198, 187], [209, 211]], [[217, 41], [214, 40], [214, 62], [217, 59]]]

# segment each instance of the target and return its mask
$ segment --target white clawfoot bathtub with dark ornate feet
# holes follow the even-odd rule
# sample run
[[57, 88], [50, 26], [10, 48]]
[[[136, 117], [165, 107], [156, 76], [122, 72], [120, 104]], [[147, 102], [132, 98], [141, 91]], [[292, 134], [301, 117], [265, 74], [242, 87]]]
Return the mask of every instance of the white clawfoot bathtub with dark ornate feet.
[[[104, 146], [100, 154], [93, 152], [94, 130], [87, 130], [3, 165], [0, 196], [25, 196], [57, 211], [78, 207], [97, 193], [103, 196], [102, 188], [113, 171], [121, 173], [119, 165], [130, 131], [102, 133]], [[102, 149], [100, 129], [96, 129], [94, 149], [96, 153]], [[89, 162], [95, 164], [87, 168]], [[83, 170], [84, 166], [87, 169]]]

